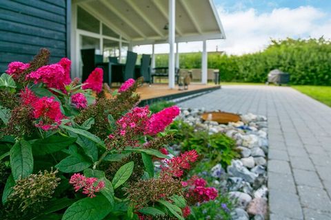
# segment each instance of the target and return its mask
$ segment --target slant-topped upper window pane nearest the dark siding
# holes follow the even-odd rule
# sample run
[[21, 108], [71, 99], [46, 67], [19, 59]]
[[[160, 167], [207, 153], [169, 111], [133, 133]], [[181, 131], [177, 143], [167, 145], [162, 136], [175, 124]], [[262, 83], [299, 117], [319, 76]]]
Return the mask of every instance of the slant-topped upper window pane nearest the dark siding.
[[77, 28], [100, 34], [100, 21], [94, 18], [90, 13], [77, 7]]

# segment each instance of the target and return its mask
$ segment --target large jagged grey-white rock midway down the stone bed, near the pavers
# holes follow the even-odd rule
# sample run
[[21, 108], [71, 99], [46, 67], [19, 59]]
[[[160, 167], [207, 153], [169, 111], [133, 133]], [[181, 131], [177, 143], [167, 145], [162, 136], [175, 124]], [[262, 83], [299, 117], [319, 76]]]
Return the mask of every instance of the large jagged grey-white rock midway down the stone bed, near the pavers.
[[250, 172], [250, 170], [245, 168], [245, 166], [243, 166], [243, 163], [238, 159], [232, 160], [231, 165], [228, 166], [227, 169], [230, 175], [234, 177], [241, 177], [245, 181], [248, 181], [250, 183], [254, 182], [254, 180], [258, 176], [256, 173], [252, 173]]

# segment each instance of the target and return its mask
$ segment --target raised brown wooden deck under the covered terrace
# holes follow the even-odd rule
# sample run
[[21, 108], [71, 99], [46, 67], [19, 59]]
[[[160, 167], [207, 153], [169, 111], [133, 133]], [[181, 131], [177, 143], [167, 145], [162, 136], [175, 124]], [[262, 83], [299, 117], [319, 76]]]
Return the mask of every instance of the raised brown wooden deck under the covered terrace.
[[152, 84], [139, 87], [137, 93], [140, 94], [142, 102], [150, 103], [154, 102], [153, 100], [171, 100], [220, 88], [220, 85], [191, 84], [188, 86], [188, 90], [179, 90], [178, 86], [175, 89], [170, 89], [168, 84]]

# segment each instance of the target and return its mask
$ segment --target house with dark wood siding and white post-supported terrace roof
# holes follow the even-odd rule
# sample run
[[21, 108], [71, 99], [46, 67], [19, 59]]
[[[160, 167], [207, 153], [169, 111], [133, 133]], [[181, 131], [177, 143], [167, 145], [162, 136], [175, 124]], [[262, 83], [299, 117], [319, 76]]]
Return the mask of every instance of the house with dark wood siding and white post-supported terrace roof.
[[202, 41], [202, 83], [207, 83], [206, 41], [210, 39], [225, 39], [212, 0], [0, 1], [1, 72], [9, 62], [28, 62], [40, 47], [47, 47], [51, 62], [67, 56], [72, 60], [72, 77], [80, 77], [81, 49], [95, 48], [123, 61], [134, 45], [153, 45], [154, 55], [154, 44], [170, 43], [172, 88], [179, 61], [175, 43]]

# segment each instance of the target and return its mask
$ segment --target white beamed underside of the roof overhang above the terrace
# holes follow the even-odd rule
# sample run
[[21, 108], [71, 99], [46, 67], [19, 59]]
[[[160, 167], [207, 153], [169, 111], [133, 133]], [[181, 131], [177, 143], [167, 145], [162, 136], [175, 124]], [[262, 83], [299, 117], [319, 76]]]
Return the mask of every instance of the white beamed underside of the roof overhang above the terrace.
[[[73, 0], [132, 45], [168, 42], [168, 0]], [[225, 39], [212, 0], [176, 0], [176, 42]]]

